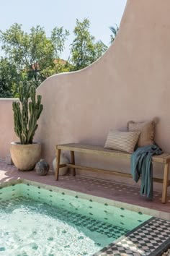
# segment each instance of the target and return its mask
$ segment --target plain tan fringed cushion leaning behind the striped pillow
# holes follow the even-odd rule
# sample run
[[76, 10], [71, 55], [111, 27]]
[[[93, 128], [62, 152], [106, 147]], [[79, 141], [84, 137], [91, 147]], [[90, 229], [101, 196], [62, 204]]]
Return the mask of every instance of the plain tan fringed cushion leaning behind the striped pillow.
[[128, 122], [129, 132], [140, 132], [138, 147], [144, 147], [146, 145], [151, 145], [154, 143], [154, 130], [155, 130], [155, 120], [153, 121], [143, 121], [143, 122]]

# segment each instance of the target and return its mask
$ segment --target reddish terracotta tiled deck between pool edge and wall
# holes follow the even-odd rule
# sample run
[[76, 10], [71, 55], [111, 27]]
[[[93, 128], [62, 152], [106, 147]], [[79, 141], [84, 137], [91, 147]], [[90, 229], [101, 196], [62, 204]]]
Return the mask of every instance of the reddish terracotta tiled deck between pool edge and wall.
[[60, 176], [57, 182], [54, 179], [53, 171], [50, 171], [47, 176], [38, 176], [35, 171], [18, 171], [15, 166], [9, 166], [5, 162], [0, 162], [1, 183], [19, 178], [170, 213], [170, 195], [169, 201], [166, 204], [162, 204], [161, 192], [154, 192], [154, 198], [151, 202], [146, 200], [145, 197], [140, 197], [140, 189], [138, 187], [71, 175]]

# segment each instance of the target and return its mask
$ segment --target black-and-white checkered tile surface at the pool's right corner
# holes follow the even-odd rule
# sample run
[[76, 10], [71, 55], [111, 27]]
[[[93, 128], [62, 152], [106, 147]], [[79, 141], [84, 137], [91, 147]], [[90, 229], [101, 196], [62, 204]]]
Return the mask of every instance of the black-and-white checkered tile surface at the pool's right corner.
[[151, 218], [94, 256], [160, 256], [170, 247], [170, 221]]

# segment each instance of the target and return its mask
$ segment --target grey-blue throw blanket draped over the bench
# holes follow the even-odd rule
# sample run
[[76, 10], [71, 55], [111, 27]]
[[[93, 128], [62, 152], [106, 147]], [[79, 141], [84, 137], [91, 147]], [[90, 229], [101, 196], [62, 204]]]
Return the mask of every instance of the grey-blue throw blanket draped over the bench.
[[140, 195], [153, 199], [153, 166], [152, 155], [161, 155], [163, 151], [157, 145], [138, 148], [131, 156], [131, 174], [135, 182], [141, 175]]

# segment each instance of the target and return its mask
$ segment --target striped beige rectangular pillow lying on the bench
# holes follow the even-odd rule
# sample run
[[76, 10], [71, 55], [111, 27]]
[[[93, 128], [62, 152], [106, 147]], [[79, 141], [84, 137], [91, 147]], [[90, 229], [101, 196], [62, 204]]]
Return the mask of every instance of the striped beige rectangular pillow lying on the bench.
[[110, 130], [104, 148], [133, 153], [140, 132], [119, 132]]

